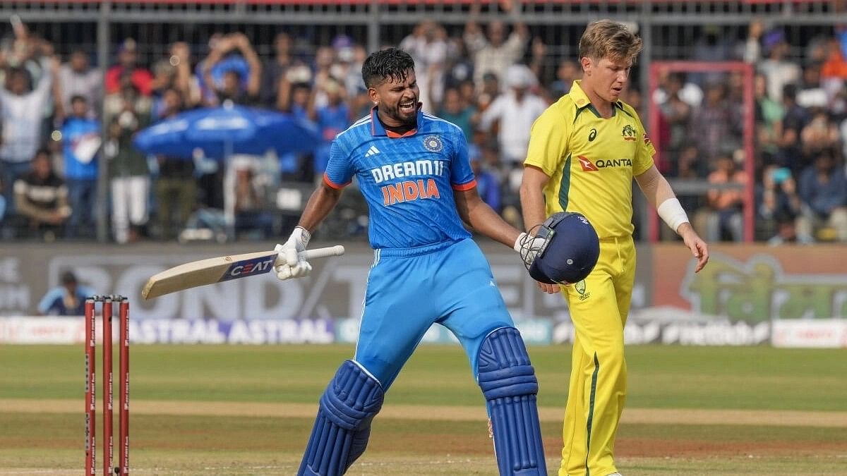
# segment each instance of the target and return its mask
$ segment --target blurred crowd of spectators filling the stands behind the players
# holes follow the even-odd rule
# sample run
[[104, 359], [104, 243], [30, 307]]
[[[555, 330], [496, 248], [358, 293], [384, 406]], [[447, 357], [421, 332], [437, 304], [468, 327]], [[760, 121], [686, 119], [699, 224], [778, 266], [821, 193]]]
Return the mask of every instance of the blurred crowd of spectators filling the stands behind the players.
[[[371, 103], [360, 76], [365, 47], [350, 36], [298, 47], [284, 30], [273, 54], [260, 56], [241, 33], [208, 44], [174, 42], [161, 58], [140, 58], [127, 38], [105, 71], [91, 51], [59, 58], [50, 42], [15, 25], [0, 42], [0, 231], [3, 239], [91, 239], [105, 207], [114, 241], [172, 240], [186, 228], [220, 222], [224, 186], [235, 197], [241, 237], [270, 238], [286, 226], [274, 191], [307, 187], [323, 174], [329, 142]], [[520, 224], [521, 162], [534, 119], [567, 94], [577, 58], [555, 56], [526, 25], [470, 21], [453, 34], [416, 25], [399, 46], [415, 58], [421, 101], [464, 130], [479, 192]], [[802, 54], [791, 54], [791, 51]], [[741, 60], [756, 67], [756, 239], [847, 241], [847, 30], [789, 45], [783, 30], [755, 22], [734, 40], [706, 29], [700, 61]], [[637, 66], [636, 66], [637, 67]], [[660, 169], [671, 178], [745, 185], [740, 74], [668, 73], [651, 98], [659, 112]], [[623, 100], [644, 104], [638, 81]], [[198, 107], [225, 102], [291, 113], [317, 126], [312, 154], [213, 161], [148, 157], [132, 147], [137, 131]], [[108, 169], [106, 203], [96, 200], [99, 168]], [[102, 184], [101, 184], [102, 185]], [[367, 221], [347, 193], [353, 226]], [[709, 241], [742, 239], [744, 191], [716, 188], [684, 196]], [[298, 210], [299, 213], [299, 210]], [[182, 235], [185, 237], [185, 235]]]

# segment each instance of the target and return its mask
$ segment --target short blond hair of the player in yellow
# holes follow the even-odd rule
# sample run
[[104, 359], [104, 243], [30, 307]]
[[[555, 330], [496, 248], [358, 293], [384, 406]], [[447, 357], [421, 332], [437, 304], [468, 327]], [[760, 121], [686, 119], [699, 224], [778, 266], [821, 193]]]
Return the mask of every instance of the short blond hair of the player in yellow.
[[626, 26], [611, 19], [599, 19], [591, 22], [579, 39], [579, 58], [634, 63], [642, 47], [641, 38]]

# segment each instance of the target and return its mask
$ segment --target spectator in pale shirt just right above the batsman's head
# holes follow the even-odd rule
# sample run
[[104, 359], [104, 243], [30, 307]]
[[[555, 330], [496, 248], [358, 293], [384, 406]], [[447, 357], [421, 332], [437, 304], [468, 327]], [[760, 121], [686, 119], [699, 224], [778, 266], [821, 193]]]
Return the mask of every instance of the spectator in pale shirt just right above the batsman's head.
[[435, 21], [415, 25], [412, 34], [403, 38], [400, 49], [415, 60], [420, 102], [424, 111], [435, 112], [444, 96], [444, 69], [447, 62], [447, 33]]

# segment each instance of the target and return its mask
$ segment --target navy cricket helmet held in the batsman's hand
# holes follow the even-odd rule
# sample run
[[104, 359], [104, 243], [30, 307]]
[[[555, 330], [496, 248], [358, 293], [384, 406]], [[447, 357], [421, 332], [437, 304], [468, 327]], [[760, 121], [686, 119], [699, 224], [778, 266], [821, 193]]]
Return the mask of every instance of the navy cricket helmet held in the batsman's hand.
[[535, 236], [544, 241], [528, 269], [529, 275], [542, 283], [578, 283], [591, 273], [600, 257], [597, 232], [581, 213], [554, 213]]

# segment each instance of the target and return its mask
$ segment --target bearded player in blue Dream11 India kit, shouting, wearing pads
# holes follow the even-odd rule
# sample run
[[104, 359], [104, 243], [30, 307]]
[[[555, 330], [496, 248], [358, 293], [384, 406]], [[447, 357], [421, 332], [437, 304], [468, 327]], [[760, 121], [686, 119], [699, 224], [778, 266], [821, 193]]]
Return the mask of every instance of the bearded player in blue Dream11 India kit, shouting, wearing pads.
[[[412, 57], [371, 54], [362, 76], [374, 108], [335, 137], [324, 181], [309, 198], [275, 270], [307, 275], [300, 255], [355, 176], [370, 209], [374, 264], [356, 354], [320, 398], [297, 474], [336, 476], [368, 445], [385, 393], [429, 327], [450, 329], [468, 354], [487, 401], [501, 475], [546, 475], [538, 381], [488, 261], [462, 224], [513, 247], [526, 235], [476, 190], [462, 130], [421, 112]], [[532, 240], [532, 238], [529, 238]]]

